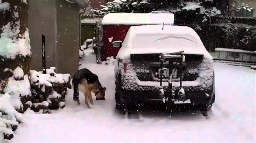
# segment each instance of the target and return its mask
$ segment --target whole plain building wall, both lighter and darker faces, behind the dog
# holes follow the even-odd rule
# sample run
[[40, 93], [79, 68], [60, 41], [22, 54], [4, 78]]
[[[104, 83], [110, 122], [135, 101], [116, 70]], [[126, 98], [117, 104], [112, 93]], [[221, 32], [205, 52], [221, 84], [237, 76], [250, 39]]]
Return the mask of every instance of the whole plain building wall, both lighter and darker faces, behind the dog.
[[73, 74], [79, 58], [79, 6], [64, 0], [30, 1], [31, 69], [42, 70], [42, 33], [46, 37], [46, 68]]

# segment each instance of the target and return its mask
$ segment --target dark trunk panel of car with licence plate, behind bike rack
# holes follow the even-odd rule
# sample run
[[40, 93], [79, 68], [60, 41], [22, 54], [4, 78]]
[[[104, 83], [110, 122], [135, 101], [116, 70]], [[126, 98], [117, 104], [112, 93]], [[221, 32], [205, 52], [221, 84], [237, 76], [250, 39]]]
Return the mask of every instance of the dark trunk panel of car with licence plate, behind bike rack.
[[[140, 81], [160, 81], [160, 54], [131, 54], [131, 63], [133, 70], [136, 72]], [[183, 66], [183, 81], [194, 81], [198, 77], [198, 69], [200, 63], [203, 62], [204, 55], [185, 54], [185, 66]], [[181, 69], [179, 63], [174, 63], [173, 81], [180, 80]], [[163, 64], [164, 78], [163, 81], [168, 81], [169, 63], [166, 61]]]

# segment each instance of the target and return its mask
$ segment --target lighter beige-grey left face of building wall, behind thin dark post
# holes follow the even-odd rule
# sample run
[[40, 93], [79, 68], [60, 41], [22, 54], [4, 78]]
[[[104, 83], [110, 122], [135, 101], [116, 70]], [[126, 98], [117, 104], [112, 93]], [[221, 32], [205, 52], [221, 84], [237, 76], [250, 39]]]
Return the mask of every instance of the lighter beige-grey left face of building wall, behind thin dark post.
[[42, 70], [42, 33], [46, 39], [46, 68], [56, 66], [56, 24], [55, 1], [30, 1], [29, 33], [32, 52], [31, 69]]

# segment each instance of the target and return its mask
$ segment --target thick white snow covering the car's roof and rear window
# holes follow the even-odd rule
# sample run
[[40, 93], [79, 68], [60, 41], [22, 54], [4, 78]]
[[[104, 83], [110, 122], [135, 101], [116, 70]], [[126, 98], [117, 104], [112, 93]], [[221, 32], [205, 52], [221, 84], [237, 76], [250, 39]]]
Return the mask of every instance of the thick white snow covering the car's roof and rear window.
[[118, 57], [124, 59], [131, 54], [179, 51], [184, 51], [185, 54], [200, 54], [212, 59], [192, 28], [171, 25], [164, 25], [164, 28], [163, 25], [131, 26]]

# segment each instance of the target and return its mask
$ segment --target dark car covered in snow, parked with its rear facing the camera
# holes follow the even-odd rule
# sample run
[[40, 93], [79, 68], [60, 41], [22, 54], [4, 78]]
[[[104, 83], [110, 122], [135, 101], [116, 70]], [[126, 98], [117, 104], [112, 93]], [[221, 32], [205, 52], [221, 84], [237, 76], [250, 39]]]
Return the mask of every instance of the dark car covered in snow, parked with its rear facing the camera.
[[[114, 69], [118, 109], [130, 103], [156, 101], [167, 105], [189, 103], [201, 105], [206, 111], [211, 109], [215, 100], [213, 60], [192, 28], [132, 26], [123, 44], [116, 41], [113, 47], [122, 47]], [[166, 53], [169, 57], [173, 52], [182, 54], [183, 65], [179, 66], [182, 61], [174, 61], [173, 72], [169, 73], [169, 61], [161, 63], [161, 56]], [[169, 83], [172, 83], [171, 89]]]

